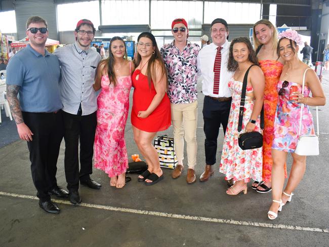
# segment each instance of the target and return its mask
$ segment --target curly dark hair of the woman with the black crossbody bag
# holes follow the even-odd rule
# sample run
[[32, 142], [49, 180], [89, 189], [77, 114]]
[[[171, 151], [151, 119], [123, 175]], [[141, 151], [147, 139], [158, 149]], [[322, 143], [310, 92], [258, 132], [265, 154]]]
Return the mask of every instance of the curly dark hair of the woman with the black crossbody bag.
[[228, 71], [234, 72], [238, 67], [237, 62], [233, 58], [233, 46], [236, 43], [244, 43], [247, 46], [248, 50], [249, 50], [248, 60], [250, 62], [252, 62], [253, 64], [259, 65], [258, 58], [256, 57], [256, 53], [253, 49], [253, 46], [252, 46], [249, 38], [239, 37], [239, 38], [234, 38], [231, 42], [231, 45], [230, 45], [230, 54], [228, 56], [228, 63], [227, 63]]

